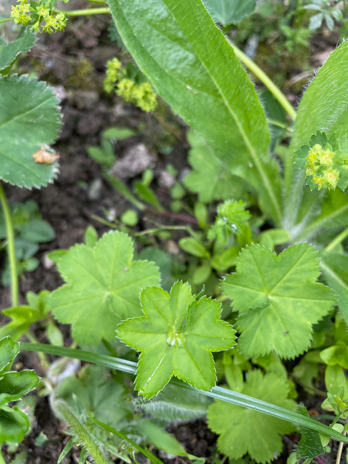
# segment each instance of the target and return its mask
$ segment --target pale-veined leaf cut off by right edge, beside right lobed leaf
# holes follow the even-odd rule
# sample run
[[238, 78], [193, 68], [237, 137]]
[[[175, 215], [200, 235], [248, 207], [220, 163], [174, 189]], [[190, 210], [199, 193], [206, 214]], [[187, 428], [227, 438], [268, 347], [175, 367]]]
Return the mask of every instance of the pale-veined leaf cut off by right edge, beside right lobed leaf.
[[348, 324], [348, 256], [322, 252], [322, 273], [337, 295], [337, 304]]

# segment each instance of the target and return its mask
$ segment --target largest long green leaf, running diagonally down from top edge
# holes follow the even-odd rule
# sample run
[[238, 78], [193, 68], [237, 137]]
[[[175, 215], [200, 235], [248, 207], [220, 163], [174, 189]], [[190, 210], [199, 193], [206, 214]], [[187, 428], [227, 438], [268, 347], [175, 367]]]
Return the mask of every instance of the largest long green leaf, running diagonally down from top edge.
[[156, 91], [282, 217], [280, 175], [254, 86], [201, 0], [111, 0], [123, 42]]

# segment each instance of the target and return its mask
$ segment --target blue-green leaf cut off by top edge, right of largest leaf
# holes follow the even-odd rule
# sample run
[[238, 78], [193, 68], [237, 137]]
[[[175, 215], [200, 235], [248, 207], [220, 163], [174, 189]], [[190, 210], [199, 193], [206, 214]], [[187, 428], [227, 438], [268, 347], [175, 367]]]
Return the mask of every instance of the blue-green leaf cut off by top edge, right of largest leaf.
[[227, 26], [253, 13], [256, 0], [206, 0], [205, 5], [214, 21]]

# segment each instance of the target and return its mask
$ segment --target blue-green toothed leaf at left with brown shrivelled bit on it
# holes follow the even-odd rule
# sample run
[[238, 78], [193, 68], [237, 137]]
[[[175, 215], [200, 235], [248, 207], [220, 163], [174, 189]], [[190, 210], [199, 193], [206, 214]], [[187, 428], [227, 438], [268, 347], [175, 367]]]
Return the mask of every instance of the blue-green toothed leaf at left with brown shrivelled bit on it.
[[57, 177], [57, 161], [35, 162], [33, 154], [58, 136], [58, 103], [52, 88], [34, 77], [0, 78], [0, 179], [39, 188]]

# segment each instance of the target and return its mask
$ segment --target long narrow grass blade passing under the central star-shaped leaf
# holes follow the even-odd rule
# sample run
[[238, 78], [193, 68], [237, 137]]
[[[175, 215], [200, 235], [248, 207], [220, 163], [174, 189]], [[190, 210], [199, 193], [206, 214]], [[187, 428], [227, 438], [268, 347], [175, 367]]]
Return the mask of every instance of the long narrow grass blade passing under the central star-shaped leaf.
[[[58, 356], [68, 356], [75, 359], [81, 359], [83, 361], [94, 362], [95, 364], [99, 364], [101, 366], [112, 367], [127, 373], [135, 374], [136, 372], [135, 362], [127, 361], [121, 358], [115, 358], [106, 354], [91, 353], [90, 351], [84, 351], [81, 349], [57, 347], [53, 345], [47, 345], [45, 343], [21, 343], [21, 349], [56, 354]], [[174, 382], [175, 380], [173, 383]], [[180, 382], [180, 386], [181, 385], [185, 386], [185, 388], [189, 390], [194, 388], [188, 384], [182, 384]], [[250, 408], [255, 411], [264, 412], [264, 414], [278, 417], [279, 419], [284, 419], [297, 425], [302, 425], [303, 427], [307, 427], [311, 430], [325, 433], [326, 435], [335, 438], [335, 440], [348, 443], [347, 437], [342, 435], [342, 433], [328, 427], [327, 425], [324, 425], [309, 417], [304, 417], [298, 412], [293, 412], [289, 409], [268, 403], [267, 401], [257, 400], [256, 398], [252, 398], [251, 396], [245, 395], [243, 393], [233, 392], [232, 390], [228, 390], [227, 388], [222, 387], [213, 387], [211, 390], [207, 390], [206, 392], [200, 391], [200, 393], [217, 400], [223, 400], [226, 403], [236, 404], [238, 406]]]

